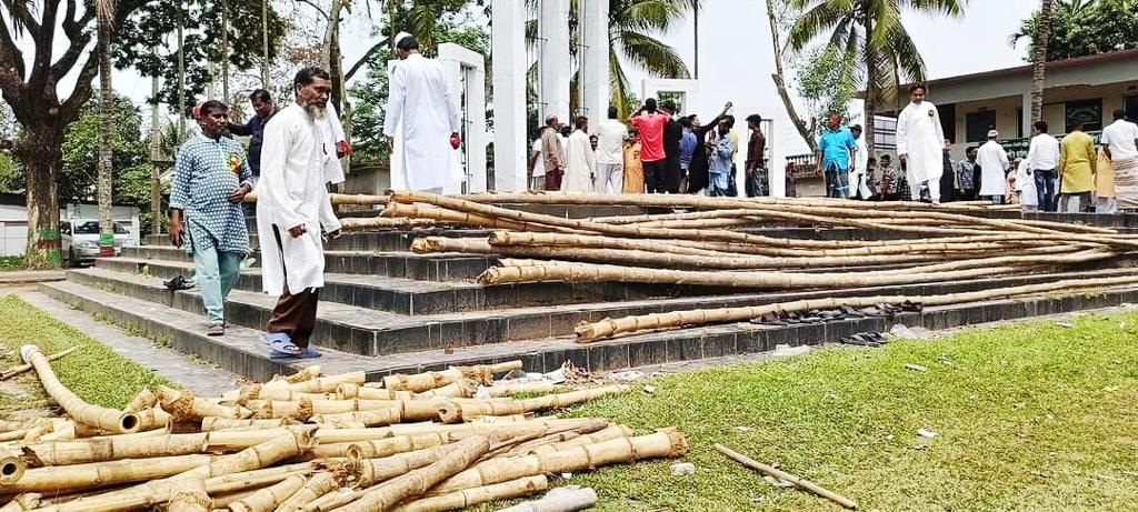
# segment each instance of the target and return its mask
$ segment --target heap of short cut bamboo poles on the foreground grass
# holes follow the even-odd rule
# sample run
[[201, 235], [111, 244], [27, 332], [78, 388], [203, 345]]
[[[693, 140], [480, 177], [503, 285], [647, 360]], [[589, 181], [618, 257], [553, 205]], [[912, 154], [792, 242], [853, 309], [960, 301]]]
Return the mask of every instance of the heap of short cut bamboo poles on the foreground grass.
[[374, 383], [311, 366], [211, 398], [143, 389], [119, 411], [83, 402], [38, 348], [23, 352], [66, 418], [0, 443], [3, 512], [440, 511], [686, 451], [671, 429], [637, 436], [603, 419], [535, 416], [629, 388], [494, 380], [517, 361]]

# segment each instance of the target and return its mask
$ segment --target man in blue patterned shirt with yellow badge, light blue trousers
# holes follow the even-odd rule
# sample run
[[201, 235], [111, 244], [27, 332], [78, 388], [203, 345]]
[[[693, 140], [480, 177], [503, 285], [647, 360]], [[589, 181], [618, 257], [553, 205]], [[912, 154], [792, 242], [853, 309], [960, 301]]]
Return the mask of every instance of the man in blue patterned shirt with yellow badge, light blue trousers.
[[201, 105], [201, 134], [178, 151], [170, 195], [170, 241], [193, 256], [208, 336], [225, 333], [225, 297], [237, 284], [249, 253], [241, 201], [253, 190], [253, 172], [241, 144], [228, 137], [229, 107]]

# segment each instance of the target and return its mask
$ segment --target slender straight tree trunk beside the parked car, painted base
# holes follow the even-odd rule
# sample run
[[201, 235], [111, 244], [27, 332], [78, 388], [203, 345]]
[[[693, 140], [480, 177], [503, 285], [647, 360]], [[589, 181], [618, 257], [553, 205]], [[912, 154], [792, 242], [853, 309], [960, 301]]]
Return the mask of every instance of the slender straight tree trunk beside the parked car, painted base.
[[110, 26], [99, 18], [99, 256], [115, 255], [115, 228], [112, 210], [112, 156], [115, 131], [115, 91], [110, 85]]

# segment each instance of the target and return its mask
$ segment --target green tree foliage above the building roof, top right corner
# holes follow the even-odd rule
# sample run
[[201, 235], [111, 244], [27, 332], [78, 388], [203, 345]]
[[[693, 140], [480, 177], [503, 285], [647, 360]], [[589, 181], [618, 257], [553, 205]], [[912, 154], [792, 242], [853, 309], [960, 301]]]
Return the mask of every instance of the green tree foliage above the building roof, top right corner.
[[[1028, 56], [1034, 55], [1039, 11], [1024, 19], [1012, 34], [1014, 47], [1026, 38]], [[1062, 60], [1138, 48], [1138, 0], [1059, 0], [1052, 11], [1047, 60]]]

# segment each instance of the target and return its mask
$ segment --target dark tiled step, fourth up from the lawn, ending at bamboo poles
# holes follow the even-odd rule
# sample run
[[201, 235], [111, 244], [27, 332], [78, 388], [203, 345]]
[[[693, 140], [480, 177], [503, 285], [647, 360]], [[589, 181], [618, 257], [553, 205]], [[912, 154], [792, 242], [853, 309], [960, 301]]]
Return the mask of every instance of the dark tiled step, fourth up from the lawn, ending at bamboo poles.
[[[261, 253], [250, 256], [261, 266]], [[122, 257], [191, 263], [185, 250], [173, 246], [123, 247]], [[407, 251], [325, 250], [324, 271], [333, 274], [386, 275], [417, 281], [473, 281], [497, 262], [490, 256], [468, 254], [414, 254]]]

